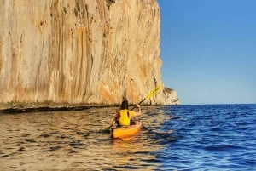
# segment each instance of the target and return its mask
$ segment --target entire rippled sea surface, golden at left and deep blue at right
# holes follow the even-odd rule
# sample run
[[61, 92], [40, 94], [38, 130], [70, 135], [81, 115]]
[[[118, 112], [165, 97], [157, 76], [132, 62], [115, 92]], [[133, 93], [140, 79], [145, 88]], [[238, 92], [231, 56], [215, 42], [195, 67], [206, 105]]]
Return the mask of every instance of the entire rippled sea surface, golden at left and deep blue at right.
[[0, 113], [0, 170], [256, 170], [256, 105], [143, 106], [128, 139], [118, 107]]

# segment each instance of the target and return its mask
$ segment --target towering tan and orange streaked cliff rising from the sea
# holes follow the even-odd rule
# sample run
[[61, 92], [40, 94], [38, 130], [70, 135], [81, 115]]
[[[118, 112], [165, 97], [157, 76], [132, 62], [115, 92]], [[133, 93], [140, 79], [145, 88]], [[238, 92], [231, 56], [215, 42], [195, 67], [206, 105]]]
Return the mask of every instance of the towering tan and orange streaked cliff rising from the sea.
[[[2, 109], [137, 103], [163, 86], [155, 0], [1, 0], [0, 14]], [[145, 103], [177, 104], [177, 94]]]

